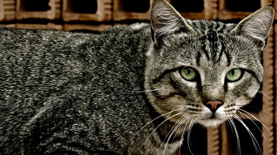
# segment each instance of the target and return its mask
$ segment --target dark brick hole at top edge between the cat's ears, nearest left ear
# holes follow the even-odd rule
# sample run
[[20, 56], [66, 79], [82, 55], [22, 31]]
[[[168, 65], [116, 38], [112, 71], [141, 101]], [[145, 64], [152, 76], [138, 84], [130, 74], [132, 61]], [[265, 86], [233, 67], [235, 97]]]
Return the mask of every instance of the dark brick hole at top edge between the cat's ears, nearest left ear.
[[171, 0], [170, 3], [178, 12], [202, 12], [204, 10], [204, 0]]

